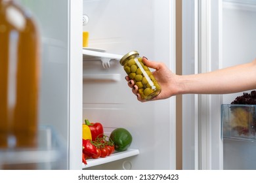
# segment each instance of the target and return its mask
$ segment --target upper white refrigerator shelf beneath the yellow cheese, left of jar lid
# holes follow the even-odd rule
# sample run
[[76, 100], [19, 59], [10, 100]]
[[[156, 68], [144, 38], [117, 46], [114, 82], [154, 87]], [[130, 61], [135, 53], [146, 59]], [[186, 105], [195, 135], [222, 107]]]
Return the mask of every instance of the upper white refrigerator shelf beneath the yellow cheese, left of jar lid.
[[97, 52], [83, 49], [83, 60], [100, 60], [104, 69], [110, 68], [111, 60], [120, 60], [123, 56], [106, 52]]

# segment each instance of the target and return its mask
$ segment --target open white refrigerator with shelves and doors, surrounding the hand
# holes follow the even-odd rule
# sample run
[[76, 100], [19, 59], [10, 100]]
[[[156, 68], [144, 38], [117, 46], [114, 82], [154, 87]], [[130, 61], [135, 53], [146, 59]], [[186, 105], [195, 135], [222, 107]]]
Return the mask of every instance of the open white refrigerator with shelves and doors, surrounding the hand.
[[[222, 139], [221, 105], [242, 93], [182, 95], [140, 103], [127, 86], [119, 59], [137, 50], [182, 75], [203, 73], [253, 59], [256, 1], [183, 0], [182, 32], [169, 0], [19, 0], [41, 30], [40, 124], [52, 125], [66, 145], [62, 169], [255, 169], [255, 142]], [[179, 19], [180, 20], [180, 19]], [[89, 32], [82, 47], [83, 31]], [[182, 63], [176, 36], [182, 35]], [[249, 45], [248, 45], [249, 44]], [[177, 133], [182, 115], [182, 134]], [[129, 150], [81, 161], [85, 119], [104, 133], [131, 132]], [[182, 151], [177, 152], [177, 139]], [[180, 143], [180, 141], [179, 141]]]

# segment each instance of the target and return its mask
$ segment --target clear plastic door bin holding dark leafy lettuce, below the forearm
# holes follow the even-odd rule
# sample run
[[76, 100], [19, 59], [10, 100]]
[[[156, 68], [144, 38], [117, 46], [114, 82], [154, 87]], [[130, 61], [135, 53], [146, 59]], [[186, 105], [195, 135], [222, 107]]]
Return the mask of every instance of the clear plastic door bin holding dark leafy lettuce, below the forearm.
[[256, 105], [221, 105], [222, 139], [256, 140]]

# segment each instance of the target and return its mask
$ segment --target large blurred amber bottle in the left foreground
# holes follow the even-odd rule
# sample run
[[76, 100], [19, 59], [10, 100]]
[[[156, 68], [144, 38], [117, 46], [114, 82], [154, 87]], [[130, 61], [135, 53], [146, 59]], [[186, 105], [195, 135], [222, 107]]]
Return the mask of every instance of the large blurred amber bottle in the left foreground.
[[0, 0], [0, 148], [37, 142], [39, 35], [27, 12]]

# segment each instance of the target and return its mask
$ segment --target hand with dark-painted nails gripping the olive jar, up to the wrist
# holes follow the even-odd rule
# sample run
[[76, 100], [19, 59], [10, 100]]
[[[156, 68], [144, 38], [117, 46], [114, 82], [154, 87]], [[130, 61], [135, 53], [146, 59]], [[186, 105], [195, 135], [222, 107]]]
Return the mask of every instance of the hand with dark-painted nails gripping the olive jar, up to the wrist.
[[[177, 78], [177, 75], [172, 73], [164, 63], [149, 61], [146, 58], [142, 58], [142, 61], [144, 65], [155, 69], [152, 74], [158, 81], [158, 84], [160, 84], [161, 86], [161, 93], [158, 96], [154, 97], [151, 101], [167, 99], [178, 92], [177, 88], [175, 87], [175, 78]], [[142, 99], [140, 94], [138, 93], [139, 88], [137, 85], [135, 85], [135, 82], [131, 80], [129, 76], [126, 76], [125, 79], [128, 82], [128, 86], [132, 88], [132, 92], [137, 95], [137, 99], [140, 102], [145, 102], [146, 100]]]

